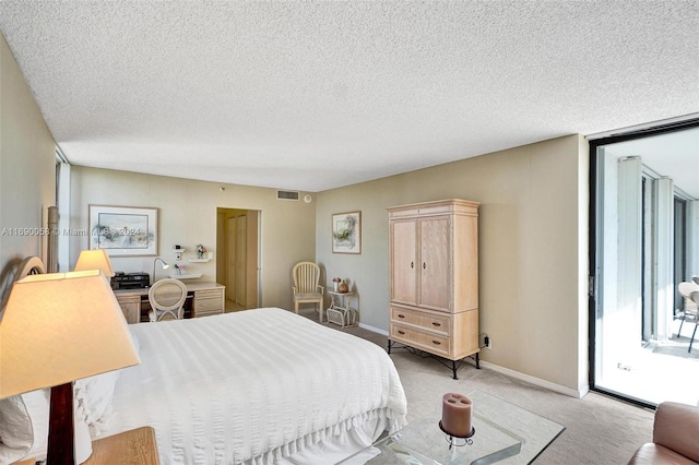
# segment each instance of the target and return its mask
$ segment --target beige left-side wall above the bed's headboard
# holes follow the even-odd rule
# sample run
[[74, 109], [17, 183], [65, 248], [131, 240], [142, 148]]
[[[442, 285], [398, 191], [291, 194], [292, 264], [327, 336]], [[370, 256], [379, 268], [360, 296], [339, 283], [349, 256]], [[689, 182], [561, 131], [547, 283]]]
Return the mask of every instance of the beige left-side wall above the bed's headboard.
[[[14, 57], [0, 36], [0, 267], [46, 260], [47, 208], [55, 204], [56, 143]], [[20, 235], [15, 228], [27, 228]], [[4, 275], [3, 275], [4, 277]]]

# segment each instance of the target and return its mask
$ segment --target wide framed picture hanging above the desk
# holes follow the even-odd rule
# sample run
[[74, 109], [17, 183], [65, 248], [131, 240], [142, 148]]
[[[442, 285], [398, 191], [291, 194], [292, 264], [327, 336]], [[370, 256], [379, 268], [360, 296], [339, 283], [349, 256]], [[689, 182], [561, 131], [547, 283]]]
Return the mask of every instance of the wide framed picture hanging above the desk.
[[157, 208], [90, 205], [90, 248], [110, 257], [157, 255]]

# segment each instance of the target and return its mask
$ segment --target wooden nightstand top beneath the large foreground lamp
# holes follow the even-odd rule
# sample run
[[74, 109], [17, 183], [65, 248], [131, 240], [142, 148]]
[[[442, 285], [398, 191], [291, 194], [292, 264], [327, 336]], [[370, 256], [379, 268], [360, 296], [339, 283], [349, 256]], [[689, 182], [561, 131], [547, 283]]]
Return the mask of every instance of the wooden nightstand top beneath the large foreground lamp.
[[[35, 461], [28, 460], [17, 462], [15, 465], [34, 463]], [[93, 441], [92, 455], [84, 465], [158, 465], [159, 463], [155, 430], [151, 427], [142, 427]]]

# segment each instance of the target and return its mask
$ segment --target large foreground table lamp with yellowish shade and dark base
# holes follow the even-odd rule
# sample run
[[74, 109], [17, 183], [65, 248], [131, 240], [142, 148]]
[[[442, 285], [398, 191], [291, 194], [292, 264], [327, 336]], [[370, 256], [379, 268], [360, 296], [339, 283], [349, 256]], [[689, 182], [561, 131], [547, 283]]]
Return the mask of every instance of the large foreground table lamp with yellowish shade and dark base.
[[74, 464], [72, 382], [140, 363], [109, 283], [97, 270], [14, 283], [0, 341], [0, 398], [51, 388], [47, 461]]

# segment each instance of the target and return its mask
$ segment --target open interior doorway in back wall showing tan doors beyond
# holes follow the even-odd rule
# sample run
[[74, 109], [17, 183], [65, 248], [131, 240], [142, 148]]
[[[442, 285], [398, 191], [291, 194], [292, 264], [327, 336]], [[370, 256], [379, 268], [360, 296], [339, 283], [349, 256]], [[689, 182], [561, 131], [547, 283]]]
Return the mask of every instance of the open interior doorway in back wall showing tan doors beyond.
[[226, 286], [226, 312], [260, 303], [261, 212], [216, 208], [216, 282]]

